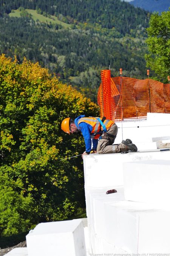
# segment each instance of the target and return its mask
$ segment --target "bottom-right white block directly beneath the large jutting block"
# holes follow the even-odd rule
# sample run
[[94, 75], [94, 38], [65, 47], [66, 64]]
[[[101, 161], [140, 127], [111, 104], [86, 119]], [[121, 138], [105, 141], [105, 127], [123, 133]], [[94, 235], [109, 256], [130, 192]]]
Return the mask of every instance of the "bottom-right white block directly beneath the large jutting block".
[[169, 253], [170, 211], [122, 201], [106, 204], [110, 244], [128, 253]]

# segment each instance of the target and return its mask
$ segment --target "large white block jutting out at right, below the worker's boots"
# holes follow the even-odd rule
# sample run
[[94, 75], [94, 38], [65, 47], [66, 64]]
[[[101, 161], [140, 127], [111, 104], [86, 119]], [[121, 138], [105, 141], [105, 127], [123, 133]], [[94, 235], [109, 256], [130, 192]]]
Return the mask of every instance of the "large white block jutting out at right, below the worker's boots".
[[[162, 153], [162, 152], [160, 152]], [[169, 156], [170, 152], [168, 151]], [[124, 163], [125, 199], [170, 208], [170, 160]]]

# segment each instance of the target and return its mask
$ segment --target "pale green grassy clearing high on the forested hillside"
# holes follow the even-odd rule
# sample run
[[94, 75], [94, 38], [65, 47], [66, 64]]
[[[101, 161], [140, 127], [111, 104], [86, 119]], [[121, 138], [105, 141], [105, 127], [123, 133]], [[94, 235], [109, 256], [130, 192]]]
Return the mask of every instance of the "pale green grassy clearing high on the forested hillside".
[[[28, 13], [30, 13], [32, 15], [32, 19], [34, 19], [35, 21], [37, 19], [39, 19], [40, 22], [51, 22], [52, 24], [59, 24], [62, 25], [62, 27], [64, 28], [69, 28], [71, 25], [70, 24], [66, 24], [60, 20], [57, 19], [56, 16], [52, 16], [51, 18], [45, 17], [42, 14], [38, 14], [36, 10], [32, 10], [32, 9], [25, 9], [26, 11], [28, 11]], [[20, 16], [20, 11], [19, 9], [14, 10], [14, 13], [9, 13], [10, 17], [21, 17]]]

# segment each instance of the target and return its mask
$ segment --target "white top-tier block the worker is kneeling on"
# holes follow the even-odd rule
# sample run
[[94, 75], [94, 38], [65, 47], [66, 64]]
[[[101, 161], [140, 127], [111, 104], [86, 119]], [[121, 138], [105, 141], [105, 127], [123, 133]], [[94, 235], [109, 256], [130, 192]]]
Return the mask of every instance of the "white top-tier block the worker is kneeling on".
[[169, 159], [169, 151], [129, 152], [128, 154], [84, 155], [85, 189], [114, 187], [124, 184], [123, 163], [151, 159]]

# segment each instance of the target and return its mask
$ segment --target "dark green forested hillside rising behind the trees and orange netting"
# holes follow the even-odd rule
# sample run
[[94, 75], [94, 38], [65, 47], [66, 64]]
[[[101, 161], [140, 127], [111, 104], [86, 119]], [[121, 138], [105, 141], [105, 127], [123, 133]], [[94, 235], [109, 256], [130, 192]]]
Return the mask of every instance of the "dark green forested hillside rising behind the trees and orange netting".
[[[33, 19], [36, 9], [48, 22]], [[144, 55], [150, 13], [120, 0], [99, 1], [2, 1], [0, 2], [0, 53], [20, 62], [27, 59], [41, 64], [66, 83], [71, 83], [96, 101], [100, 70], [145, 78]], [[18, 15], [18, 11], [16, 12]], [[52, 16], [52, 15], [55, 16]], [[65, 28], [54, 17], [70, 24]], [[49, 22], [49, 19], [51, 22]]]

